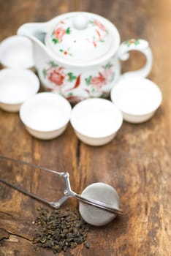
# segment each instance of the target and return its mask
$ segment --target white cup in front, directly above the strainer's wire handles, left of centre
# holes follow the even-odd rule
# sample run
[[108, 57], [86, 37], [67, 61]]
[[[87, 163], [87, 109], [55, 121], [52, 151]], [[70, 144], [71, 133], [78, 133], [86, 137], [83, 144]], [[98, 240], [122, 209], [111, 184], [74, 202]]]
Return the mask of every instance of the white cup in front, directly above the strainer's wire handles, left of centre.
[[41, 92], [23, 103], [20, 119], [35, 138], [50, 140], [65, 131], [71, 110], [71, 105], [61, 95]]

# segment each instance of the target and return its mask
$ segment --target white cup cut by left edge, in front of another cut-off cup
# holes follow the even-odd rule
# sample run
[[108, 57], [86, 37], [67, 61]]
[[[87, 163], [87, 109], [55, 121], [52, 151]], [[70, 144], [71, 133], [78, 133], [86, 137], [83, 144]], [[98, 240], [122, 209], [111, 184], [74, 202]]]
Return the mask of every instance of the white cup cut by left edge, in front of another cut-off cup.
[[28, 69], [6, 68], [0, 71], [0, 108], [18, 112], [20, 105], [39, 90], [37, 75]]

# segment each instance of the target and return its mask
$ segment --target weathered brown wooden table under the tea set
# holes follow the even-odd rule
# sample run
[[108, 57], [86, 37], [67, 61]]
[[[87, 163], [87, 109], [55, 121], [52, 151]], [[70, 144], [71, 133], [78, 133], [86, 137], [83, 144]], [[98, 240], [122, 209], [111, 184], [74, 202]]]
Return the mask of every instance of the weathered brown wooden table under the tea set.
[[[77, 140], [72, 127], [59, 138], [42, 141], [26, 132], [18, 113], [0, 110], [0, 154], [27, 162], [67, 170], [72, 188], [83, 191], [97, 181], [110, 184], [121, 197], [125, 214], [104, 227], [91, 227], [91, 248], [77, 246], [61, 255], [167, 256], [171, 253], [170, 217], [170, 125], [171, 125], [171, 20], [170, 0], [129, 1], [0, 1], [0, 39], [15, 34], [22, 23], [45, 21], [63, 12], [83, 10], [110, 19], [121, 31], [121, 40], [147, 39], [153, 50], [149, 78], [159, 85], [163, 103], [144, 124], [124, 122], [117, 137], [106, 146], [91, 147]], [[134, 61], [132, 61], [134, 58]], [[123, 71], [141, 67], [140, 53], [132, 53]], [[62, 183], [51, 174], [15, 168], [0, 161], [1, 176], [18, 182], [31, 192], [58, 199]], [[53, 255], [45, 249], [34, 252], [32, 222], [37, 200], [0, 184], [0, 255]], [[76, 208], [77, 201], [63, 206]]]

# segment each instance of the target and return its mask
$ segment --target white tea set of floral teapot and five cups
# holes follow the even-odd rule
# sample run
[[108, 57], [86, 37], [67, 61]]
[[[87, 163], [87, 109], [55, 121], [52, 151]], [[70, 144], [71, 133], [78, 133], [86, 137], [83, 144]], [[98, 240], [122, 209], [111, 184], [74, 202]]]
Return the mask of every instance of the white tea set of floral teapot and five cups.
[[[161, 90], [145, 78], [153, 62], [148, 42], [120, 45], [118, 29], [106, 18], [69, 12], [23, 24], [17, 34], [0, 45], [0, 108], [19, 111], [36, 138], [56, 138], [70, 120], [80, 140], [101, 146], [113, 140], [123, 120], [147, 121], [161, 105]], [[121, 75], [121, 61], [132, 50], [143, 53], [146, 63]], [[38, 93], [39, 80], [46, 92]], [[104, 99], [109, 96], [111, 101]]]

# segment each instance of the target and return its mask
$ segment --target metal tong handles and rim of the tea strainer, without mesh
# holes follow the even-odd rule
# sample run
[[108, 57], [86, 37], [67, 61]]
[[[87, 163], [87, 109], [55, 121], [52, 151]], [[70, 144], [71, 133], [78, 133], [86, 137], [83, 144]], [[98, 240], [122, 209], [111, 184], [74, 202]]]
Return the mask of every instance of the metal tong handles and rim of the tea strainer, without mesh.
[[0, 181], [2, 183], [6, 184], [7, 186], [12, 187], [13, 189], [17, 189], [19, 192], [22, 192], [25, 195], [28, 195], [28, 196], [30, 196], [30, 197], [32, 197], [34, 199], [37, 199], [37, 200], [39, 200], [39, 201], [41, 201], [43, 203], [46, 203], [47, 205], [49, 205], [49, 206], [51, 206], [53, 208], [58, 209], [58, 208], [61, 207], [61, 205], [69, 197], [75, 197], [75, 198], [77, 198], [77, 200], [80, 200], [83, 203], [87, 203], [87, 204], [89, 204], [91, 206], [95, 206], [97, 208], [102, 208], [105, 211], [109, 211], [109, 212], [111, 212], [113, 214], [123, 214], [123, 211], [120, 208], [112, 208], [110, 206], [107, 206], [106, 203], [103, 203], [103, 202], [101, 202], [99, 200], [88, 199], [86, 197], [82, 197], [81, 195], [77, 195], [77, 193], [75, 193], [71, 189], [70, 182], [69, 182], [69, 173], [66, 173], [66, 172], [59, 173], [56, 170], [51, 170], [51, 169], [48, 169], [46, 167], [34, 165], [34, 164], [29, 163], [29, 162], [24, 162], [24, 161], [21, 161], [21, 160], [18, 160], [18, 159], [10, 158], [10, 157], [0, 156], [0, 159], [7, 160], [7, 161], [12, 161], [12, 162], [17, 162], [18, 164], [21, 164], [21, 165], [28, 165], [30, 167], [39, 168], [40, 170], [46, 170], [47, 172], [56, 173], [59, 176], [61, 176], [62, 178], [64, 178], [65, 185], [66, 185], [66, 188], [64, 189], [64, 197], [61, 197], [61, 199], [59, 199], [57, 202], [54, 202], [54, 201], [49, 201], [49, 200], [46, 200], [46, 199], [44, 199], [42, 197], [39, 197], [38, 195], [34, 195], [31, 192], [28, 192], [25, 189], [16, 186], [15, 184], [11, 184], [8, 181], [5, 181], [4, 178], [0, 177]]

